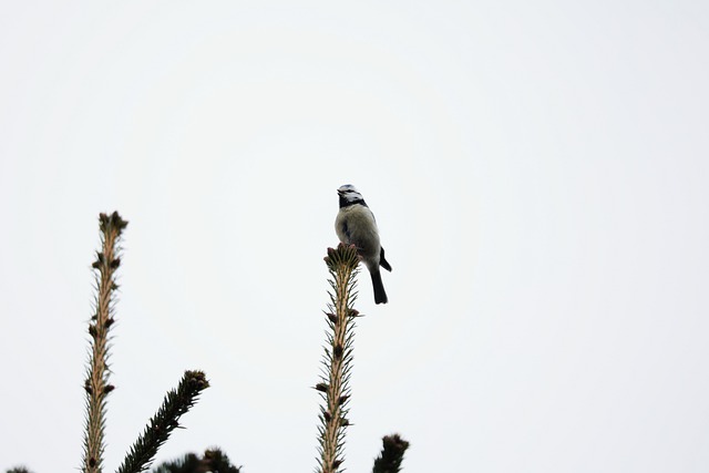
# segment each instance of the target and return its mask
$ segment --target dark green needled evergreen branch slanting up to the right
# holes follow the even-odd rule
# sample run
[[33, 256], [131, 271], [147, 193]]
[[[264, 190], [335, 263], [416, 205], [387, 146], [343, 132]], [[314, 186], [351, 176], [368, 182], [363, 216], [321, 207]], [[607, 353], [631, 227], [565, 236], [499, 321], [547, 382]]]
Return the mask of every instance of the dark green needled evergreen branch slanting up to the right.
[[131, 446], [117, 473], [140, 473], [147, 470], [157, 449], [165, 443], [172, 431], [179, 426], [179, 417], [195, 404], [199, 393], [208, 387], [209, 382], [204, 372], [185, 371], [177, 389], [167, 393], [163, 405]]

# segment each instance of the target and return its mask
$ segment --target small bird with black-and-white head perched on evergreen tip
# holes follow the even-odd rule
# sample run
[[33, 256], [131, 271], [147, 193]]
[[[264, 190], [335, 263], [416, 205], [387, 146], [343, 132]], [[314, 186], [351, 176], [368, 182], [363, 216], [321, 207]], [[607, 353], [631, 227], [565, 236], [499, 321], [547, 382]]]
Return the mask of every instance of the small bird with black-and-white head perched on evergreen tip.
[[372, 276], [374, 302], [387, 304], [387, 292], [379, 267], [391, 271], [391, 265], [384, 258], [384, 248], [379, 244], [374, 214], [353, 185], [346, 184], [337, 189], [337, 193], [340, 196], [340, 212], [335, 219], [335, 232], [340, 241], [357, 247], [360, 259]]

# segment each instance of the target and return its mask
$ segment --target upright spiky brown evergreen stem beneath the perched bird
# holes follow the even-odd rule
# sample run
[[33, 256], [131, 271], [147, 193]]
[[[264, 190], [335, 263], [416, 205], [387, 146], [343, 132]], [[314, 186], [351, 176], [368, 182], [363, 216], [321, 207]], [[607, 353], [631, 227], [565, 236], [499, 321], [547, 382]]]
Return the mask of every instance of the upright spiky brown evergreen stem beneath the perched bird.
[[354, 337], [354, 317], [359, 315], [352, 308], [357, 299], [356, 276], [359, 257], [353, 245], [340, 244], [337, 249], [328, 248], [325, 263], [330, 271], [328, 280], [332, 292], [331, 304], [326, 312], [328, 332], [326, 353], [322, 360], [325, 373], [316, 390], [322, 394], [325, 405], [320, 407], [319, 449], [320, 473], [336, 473], [342, 464], [345, 429], [350, 424], [347, 408], [350, 389], [349, 372], [352, 362], [352, 342]]

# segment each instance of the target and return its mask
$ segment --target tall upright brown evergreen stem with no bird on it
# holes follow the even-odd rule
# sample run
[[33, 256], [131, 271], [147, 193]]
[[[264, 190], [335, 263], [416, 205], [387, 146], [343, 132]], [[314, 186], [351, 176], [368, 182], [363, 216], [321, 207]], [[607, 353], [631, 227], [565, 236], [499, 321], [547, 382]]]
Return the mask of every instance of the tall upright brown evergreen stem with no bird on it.
[[84, 381], [86, 391], [86, 431], [84, 432], [84, 457], [82, 470], [84, 473], [100, 473], [103, 463], [104, 428], [106, 395], [113, 390], [109, 384], [109, 329], [114, 322], [113, 291], [117, 289], [114, 274], [121, 265], [117, 243], [121, 233], [127, 226], [117, 212], [110, 216], [99, 216], [101, 229], [101, 251], [96, 253], [93, 268], [95, 277], [96, 300], [95, 313], [89, 322], [91, 335], [91, 359]]

